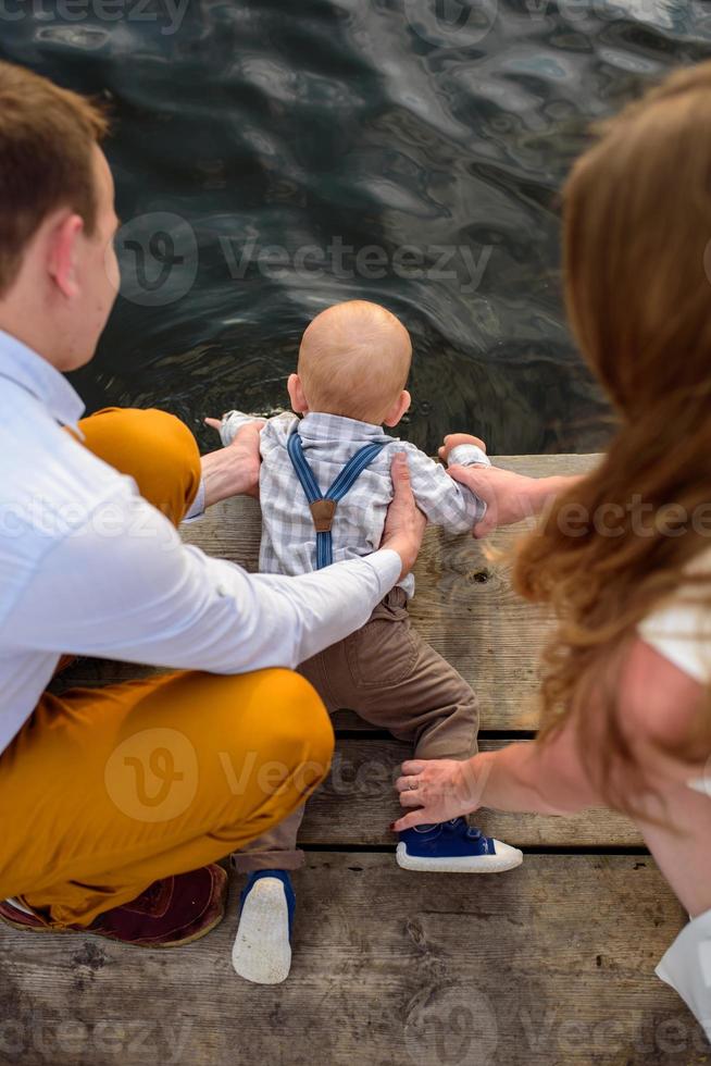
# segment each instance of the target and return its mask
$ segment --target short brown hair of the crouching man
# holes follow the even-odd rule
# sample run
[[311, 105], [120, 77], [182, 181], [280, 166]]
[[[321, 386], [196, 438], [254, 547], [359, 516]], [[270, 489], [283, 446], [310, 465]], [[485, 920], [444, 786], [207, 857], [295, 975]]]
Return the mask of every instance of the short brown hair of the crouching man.
[[70, 208], [95, 232], [93, 147], [108, 127], [97, 103], [0, 62], [0, 297], [53, 211]]

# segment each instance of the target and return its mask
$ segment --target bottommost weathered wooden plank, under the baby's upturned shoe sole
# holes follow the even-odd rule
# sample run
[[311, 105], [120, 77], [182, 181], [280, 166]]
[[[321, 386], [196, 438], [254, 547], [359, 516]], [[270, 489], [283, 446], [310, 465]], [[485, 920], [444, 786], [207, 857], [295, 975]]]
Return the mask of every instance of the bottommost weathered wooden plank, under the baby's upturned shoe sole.
[[171, 952], [0, 931], [0, 1061], [24, 1066], [696, 1066], [653, 966], [684, 915], [650, 860], [531, 856], [489, 878], [312, 854], [291, 976], [232, 970], [227, 919]]

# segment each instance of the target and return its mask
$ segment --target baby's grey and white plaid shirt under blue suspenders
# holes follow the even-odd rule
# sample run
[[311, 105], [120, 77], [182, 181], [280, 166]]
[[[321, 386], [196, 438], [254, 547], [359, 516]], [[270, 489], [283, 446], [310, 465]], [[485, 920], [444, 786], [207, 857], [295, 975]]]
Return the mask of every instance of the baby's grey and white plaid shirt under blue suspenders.
[[[225, 414], [222, 443], [228, 445], [237, 431], [250, 421], [252, 417], [240, 411]], [[373, 442], [386, 442], [379, 456], [338, 504], [332, 530], [334, 562], [370, 555], [379, 548], [392, 499], [390, 466], [396, 451], [407, 453], [414, 497], [433, 525], [441, 525], [452, 533], [469, 533], [484, 517], [486, 504], [478, 496], [453, 481], [439, 462], [413, 444], [384, 433], [382, 426], [336, 414], [314, 412], [300, 421], [296, 414], [279, 414], [269, 420], [261, 434], [262, 543], [259, 566], [262, 573], [299, 574], [315, 569], [313, 519], [286, 446], [297, 423], [307, 461], [324, 493], [360, 448]], [[484, 453], [473, 445], [460, 445], [452, 451], [450, 461], [463, 466], [489, 463]], [[412, 596], [412, 574], [401, 582], [401, 586]]]

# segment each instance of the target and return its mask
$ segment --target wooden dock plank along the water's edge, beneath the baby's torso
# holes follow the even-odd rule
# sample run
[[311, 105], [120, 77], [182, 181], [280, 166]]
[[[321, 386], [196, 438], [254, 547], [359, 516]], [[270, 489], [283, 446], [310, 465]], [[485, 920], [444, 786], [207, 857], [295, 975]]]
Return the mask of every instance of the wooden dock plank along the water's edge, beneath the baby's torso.
[[[599, 456], [498, 456], [495, 462], [532, 476], [585, 473]], [[550, 630], [547, 612], [523, 603], [511, 590], [506, 559], [487, 558], [487, 545], [508, 551], [533, 522], [499, 530], [485, 543], [471, 536], [427, 531], [417, 560], [414, 624], [477, 691], [482, 728], [535, 729], [538, 721], [538, 655]], [[260, 510], [255, 500], [232, 499], [204, 519], [184, 526], [184, 538], [250, 570], [257, 569]], [[142, 675], [127, 664], [80, 660], [59, 682], [97, 684]], [[149, 671], [150, 672], [150, 671]], [[339, 724], [360, 728], [352, 716]]]

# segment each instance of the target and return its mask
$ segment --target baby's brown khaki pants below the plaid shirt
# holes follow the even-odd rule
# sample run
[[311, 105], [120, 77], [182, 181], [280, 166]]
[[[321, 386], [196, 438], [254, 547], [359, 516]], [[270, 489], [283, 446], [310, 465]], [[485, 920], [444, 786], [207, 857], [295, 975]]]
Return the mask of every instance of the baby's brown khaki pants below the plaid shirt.
[[[300, 667], [329, 714], [346, 707], [414, 746], [417, 759], [466, 759], [476, 754], [474, 692], [412, 629], [407, 597], [395, 588], [366, 624]], [[303, 864], [296, 840], [303, 807], [233, 855], [234, 867], [294, 870]]]

